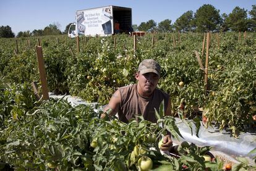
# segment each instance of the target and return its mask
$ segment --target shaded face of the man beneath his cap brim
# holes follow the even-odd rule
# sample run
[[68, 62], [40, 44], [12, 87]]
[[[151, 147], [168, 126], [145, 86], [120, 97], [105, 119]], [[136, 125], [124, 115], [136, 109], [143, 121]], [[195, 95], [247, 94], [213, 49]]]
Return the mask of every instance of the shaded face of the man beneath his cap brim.
[[159, 76], [153, 72], [144, 74], [138, 72], [135, 74], [135, 78], [138, 80], [138, 91], [142, 96], [150, 96], [159, 81]]

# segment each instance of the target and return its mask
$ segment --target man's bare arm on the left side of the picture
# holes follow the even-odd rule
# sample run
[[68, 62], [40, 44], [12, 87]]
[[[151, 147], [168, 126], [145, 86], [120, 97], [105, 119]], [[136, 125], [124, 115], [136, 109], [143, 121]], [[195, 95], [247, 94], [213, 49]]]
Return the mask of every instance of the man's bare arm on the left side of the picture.
[[109, 112], [108, 114], [111, 116], [115, 115], [119, 109], [120, 104], [121, 104], [121, 95], [119, 90], [117, 90], [111, 97], [108, 105], [105, 107], [103, 114], [101, 114], [101, 118], [104, 118], [106, 116], [106, 113], [108, 112]]

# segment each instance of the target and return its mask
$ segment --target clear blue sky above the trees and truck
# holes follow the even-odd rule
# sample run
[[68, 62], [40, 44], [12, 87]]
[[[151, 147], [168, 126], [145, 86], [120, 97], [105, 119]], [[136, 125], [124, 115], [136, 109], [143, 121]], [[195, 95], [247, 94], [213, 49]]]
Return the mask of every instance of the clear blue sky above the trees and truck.
[[174, 23], [187, 10], [195, 12], [203, 4], [215, 6], [220, 14], [229, 14], [236, 6], [251, 10], [256, 0], [1, 0], [0, 26], [9, 25], [17, 34], [59, 23], [61, 31], [64, 31], [66, 25], [74, 22], [76, 10], [109, 5], [132, 8], [133, 24], [139, 25], [151, 19], [156, 23], [170, 19]]

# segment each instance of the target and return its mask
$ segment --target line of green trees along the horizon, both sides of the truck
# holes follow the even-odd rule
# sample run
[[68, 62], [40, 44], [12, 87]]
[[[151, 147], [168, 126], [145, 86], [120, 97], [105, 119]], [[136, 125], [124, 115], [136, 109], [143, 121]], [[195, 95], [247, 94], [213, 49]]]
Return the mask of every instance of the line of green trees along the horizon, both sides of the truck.
[[[17, 37], [43, 36], [43, 35], [60, 35], [67, 34], [69, 23], [64, 32], [59, 30], [56, 24], [50, 24], [43, 30], [33, 30], [32, 32], [20, 31]], [[252, 6], [247, 14], [247, 10], [241, 7], [235, 7], [230, 14], [223, 13], [210, 4], [204, 4], [196, 12], [189, 10], [182, 14], [174, 23], [166, 19], [160, 23], [155, 20], [142, 22], [140, 25], [132, 25], [135, 31], [147, 32], [219, 32], [219, 31], [255, 31], [256, 30], [256, 5]], [[15, 34], [11, 27], [0, 27], [0, 38], [13, 38]]]

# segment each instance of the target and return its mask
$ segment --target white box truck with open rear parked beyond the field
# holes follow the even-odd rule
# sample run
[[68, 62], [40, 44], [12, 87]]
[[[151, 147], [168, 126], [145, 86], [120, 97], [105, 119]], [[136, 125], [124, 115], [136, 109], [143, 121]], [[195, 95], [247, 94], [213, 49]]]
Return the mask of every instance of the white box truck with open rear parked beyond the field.
[[132, 32], [132, 9], [129, 7], [105, 6], [77, 10], [75, 22], [69, 27], [69, 37], [114, 35], [114, 24], [119, 23], [119, 33]]

